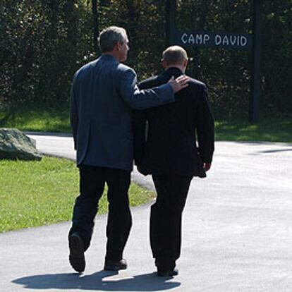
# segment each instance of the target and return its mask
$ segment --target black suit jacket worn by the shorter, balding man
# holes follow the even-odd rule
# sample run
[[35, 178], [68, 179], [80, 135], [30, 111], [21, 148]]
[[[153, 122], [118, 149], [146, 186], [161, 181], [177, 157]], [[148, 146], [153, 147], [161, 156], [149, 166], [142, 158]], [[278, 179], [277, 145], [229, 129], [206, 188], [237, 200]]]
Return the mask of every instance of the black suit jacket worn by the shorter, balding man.
[[[142, 81], [140, 89], [178, 77], [178, 68]], [[214, 152], [214, 118], [204, 83], [192, 79], [176, 93], [176, 102], [135, 111], [134, 158], [142, 174], [176, 174], [205, 177], [203, 162], [211, 163]], [[197, 141], [196, 141], [197, 135]]]

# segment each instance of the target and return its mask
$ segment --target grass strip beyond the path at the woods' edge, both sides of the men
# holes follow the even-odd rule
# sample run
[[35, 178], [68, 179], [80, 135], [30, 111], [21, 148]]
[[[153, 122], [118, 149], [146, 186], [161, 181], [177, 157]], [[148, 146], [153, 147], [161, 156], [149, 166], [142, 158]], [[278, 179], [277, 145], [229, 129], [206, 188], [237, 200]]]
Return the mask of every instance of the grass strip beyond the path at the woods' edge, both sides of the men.
[[[6, 117], [6, 118], [5, 118]], [[0, 127], [43, 132], [71, 132], [68, 109], [22, 109], [11, 114], [0, 113]], [[248, 121], [216, 121], [216, 140], [292, 142], [292, 117], [261, 118]]]

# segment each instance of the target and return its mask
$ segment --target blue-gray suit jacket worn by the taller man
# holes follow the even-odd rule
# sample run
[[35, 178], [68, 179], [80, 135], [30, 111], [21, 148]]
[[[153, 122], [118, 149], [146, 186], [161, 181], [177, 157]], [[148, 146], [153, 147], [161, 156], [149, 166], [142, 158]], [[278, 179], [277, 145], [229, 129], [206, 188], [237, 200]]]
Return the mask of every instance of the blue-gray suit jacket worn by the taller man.
[[135, 71], [103, 54], [74, 75], [70, 120], [77, 165], [133, 169], [132, 109], [174, 102], [171, 85], [139, 90]]

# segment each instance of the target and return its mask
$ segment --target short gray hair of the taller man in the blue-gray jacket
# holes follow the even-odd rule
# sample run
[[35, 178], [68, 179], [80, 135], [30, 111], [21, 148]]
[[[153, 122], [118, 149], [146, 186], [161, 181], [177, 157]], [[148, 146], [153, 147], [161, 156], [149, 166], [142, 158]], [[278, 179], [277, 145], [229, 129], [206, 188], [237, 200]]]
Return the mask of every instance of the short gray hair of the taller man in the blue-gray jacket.
[[102, 53], [112, 51], [117, 42], [128, 42], [127, 32], [124, 28], [110, 26], [99, 33], [98, 42]]

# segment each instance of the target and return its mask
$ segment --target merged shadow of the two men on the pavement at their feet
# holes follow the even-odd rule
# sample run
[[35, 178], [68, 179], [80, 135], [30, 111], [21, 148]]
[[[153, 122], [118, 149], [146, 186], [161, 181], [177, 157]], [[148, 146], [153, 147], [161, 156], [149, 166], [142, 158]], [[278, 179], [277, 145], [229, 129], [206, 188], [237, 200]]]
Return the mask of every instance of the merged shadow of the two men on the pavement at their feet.
[[79, 274], [43, 274], [26, 276], [13, 280], [13, 283], [30, 289], [82, 289], [95, 291], [163, 291], [181, 285], [179, 282], [167, 282], [172, 277], [161, 278], [155, 273], [141, 274], [128, 279], [104, 280], [115, 276], [117, 272], [100, 271], [91, 275]]

